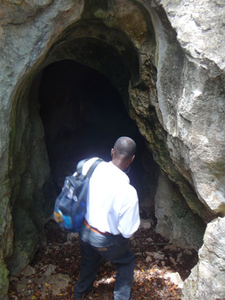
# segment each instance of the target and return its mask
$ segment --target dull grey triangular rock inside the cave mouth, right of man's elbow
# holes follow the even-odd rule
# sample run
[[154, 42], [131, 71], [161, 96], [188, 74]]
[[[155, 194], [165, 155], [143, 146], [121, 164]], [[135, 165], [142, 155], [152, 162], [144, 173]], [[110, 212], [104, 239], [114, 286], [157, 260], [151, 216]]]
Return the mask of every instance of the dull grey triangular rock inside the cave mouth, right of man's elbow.
[[185, 205], [182, 195], [172, 186], [167, 176], [161, 174], [155, 197], [156, 232], [179, 247], [196, 249], [203, 242], [205, 226]]

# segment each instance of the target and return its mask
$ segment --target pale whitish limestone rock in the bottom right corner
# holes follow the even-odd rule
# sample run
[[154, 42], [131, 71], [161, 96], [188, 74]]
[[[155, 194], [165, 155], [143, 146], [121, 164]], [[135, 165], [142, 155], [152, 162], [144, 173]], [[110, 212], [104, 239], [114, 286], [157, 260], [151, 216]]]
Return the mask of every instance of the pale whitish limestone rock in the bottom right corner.
[[224, 299], [225, 217], [210, 222], [199, 250], [199, 263], [183, 285], [183, 300]]

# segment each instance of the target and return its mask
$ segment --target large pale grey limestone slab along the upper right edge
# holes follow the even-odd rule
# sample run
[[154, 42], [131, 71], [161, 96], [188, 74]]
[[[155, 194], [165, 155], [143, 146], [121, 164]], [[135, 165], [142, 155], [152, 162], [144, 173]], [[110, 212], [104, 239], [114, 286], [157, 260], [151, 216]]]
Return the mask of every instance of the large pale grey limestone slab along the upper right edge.
[[[158, 78], [159, 106], [170, 156], [194, 185], [199, 199], [215, 213], [225, 213], [224, 28], [222, 1], [162, 0], [182, 52], [183, 82], [172, 95], [169, 77]], [[213, 42], [213, 41], [217, 42]], [[170, 47], [168, 40], [164, 40]], [[162, 49], [163, 50], [163, 49]], [[165, 57], [164, 68], [170, 67]], [[163, 52], [162, 52], [163, 54]], [[169, 53], [168, 53], [169, 54]], [[166, 68], [167, 68], [166, 67]], [[170, 68], [171, 70], [173, 68]], [[176, 68], [172, 73], [176, 72]], [[172, 88], [173, 89], [173, 88]], [[191, 177], [190, 177], [191, 175]]]

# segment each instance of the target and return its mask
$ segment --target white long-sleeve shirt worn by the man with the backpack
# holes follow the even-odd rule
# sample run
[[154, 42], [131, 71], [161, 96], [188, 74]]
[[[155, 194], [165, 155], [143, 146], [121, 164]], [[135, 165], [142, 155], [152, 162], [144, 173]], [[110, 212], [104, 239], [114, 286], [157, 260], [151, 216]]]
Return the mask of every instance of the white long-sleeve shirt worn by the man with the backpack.
[[[83, 165], [83, 174], [97, 160]], [[100, 163], [90, 178], [85, 219], [101, 232], [130, 238], [140, 225], [138, 194], [128, 176], [112, 162]]]

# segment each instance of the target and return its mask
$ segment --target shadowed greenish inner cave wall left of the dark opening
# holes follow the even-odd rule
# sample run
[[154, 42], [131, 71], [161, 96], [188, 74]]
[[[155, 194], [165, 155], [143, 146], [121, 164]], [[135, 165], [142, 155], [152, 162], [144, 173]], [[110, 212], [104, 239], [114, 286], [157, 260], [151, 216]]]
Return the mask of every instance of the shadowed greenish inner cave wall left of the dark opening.
[[[11, 274], [31, 262], [44, 244], [43, 226], [56, 194], [44, 194], [44, 185], [53, 187], [44, 127], [38, 113], [39, 81], [21, 85], [10, 115], [8, 186], [13, 224], [13, 247], [7, 261]], [[45, 206], [45, 207], [44, 207]], [[52, 210], [52, 208], [51, 208]], [[8, 256], [6, 256], [8, 258]]]

